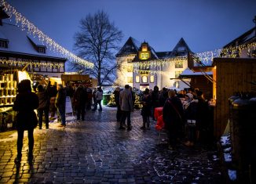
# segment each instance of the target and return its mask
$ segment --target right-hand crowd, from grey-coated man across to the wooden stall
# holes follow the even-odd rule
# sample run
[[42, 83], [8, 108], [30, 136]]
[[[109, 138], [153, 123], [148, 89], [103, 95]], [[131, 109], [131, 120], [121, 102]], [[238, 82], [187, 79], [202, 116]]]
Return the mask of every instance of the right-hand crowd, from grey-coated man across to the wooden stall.
[[[115, 104], [117, 106], [116, 121], [119, 129], [130, 131], [130, 112], [133, 111], [134, 94], [129, 85], [121, 90], [115, 88]], [[153, 90], [144, 89], [140, 98], [142, 108], [142, 130], [150, 129], [150, 119], [155, 120], [155, 108], [163, 107], [164, 129], [169, 136], [169, 149], [174, 150], [177, 145], [184, 141], [185, 146], [194, 146], [195, 142], [207, 142], [210, 140], [210, 109], [207, 99], [199, 89], [177, 92], [168, 88], [161, 91], [158, 86]], [[127, 125], [126, 125], [127, 119]]]

